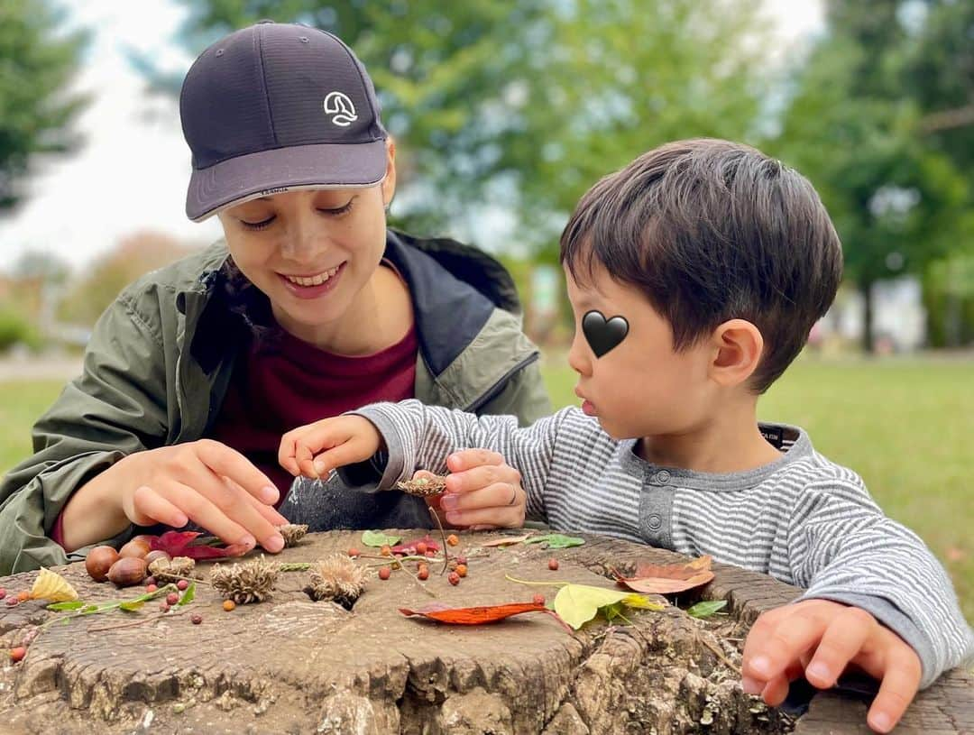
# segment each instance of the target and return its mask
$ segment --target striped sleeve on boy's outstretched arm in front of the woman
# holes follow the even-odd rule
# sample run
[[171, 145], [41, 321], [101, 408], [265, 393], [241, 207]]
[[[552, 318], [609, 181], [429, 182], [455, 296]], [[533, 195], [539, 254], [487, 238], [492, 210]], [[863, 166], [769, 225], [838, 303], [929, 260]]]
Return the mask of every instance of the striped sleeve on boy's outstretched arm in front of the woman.
[[415, 399], [375, 403], [354, 413], [374, 423], [385, 439], [389, 458], [381, 488], [412, 477], [417, 469], [444, 474], [446, 458], [454, 452], [489, 449], [521, 472], [527, 513], [543, 518], [544, 488], [558, 429], [569, 411], [563, 409], [524, 428], [518, 427], [515, 416], [476, 416]]

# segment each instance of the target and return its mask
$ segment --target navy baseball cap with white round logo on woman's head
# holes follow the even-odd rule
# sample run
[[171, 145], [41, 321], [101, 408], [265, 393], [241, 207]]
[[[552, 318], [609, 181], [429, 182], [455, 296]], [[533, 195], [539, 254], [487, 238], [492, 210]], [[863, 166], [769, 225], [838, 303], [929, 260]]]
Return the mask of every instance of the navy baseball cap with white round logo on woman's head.
[[386, 130], [365, 67], [339, 38], [262, 20], [217, 41], [179, 95], [193, 152], [186, 215], [293, 189], [374, 186]]

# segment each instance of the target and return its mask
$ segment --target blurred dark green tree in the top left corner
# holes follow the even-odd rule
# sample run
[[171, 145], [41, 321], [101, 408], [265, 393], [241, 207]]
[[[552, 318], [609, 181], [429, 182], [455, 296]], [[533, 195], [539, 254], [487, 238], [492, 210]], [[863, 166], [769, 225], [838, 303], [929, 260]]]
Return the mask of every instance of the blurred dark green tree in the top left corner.
[[22, 198], [34, 157], [77, 145], [70, 124], [86, 99], [66, 92], [84, 46], [47, 0], [0, 3], [0, 213]]

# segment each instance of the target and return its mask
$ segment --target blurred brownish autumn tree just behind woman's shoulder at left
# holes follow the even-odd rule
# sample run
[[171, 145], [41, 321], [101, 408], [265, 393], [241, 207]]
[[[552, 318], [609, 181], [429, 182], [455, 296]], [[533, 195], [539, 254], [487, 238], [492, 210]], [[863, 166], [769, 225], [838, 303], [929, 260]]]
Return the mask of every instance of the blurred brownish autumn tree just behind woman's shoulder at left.
[[119, 292], [136, 278], [186, 255], [191, 248], [153, 232], [135, 233], [85, 269], [86, 275], [67, 289], [57, 307], [60, 321], [91, 326]]

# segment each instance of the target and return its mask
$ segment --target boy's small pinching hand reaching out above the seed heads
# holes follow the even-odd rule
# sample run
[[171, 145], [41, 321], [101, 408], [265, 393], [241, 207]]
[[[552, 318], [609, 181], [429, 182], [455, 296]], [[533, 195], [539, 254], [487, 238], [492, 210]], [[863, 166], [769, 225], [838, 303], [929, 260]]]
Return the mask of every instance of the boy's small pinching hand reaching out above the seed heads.
[[323, 478], [333, 469], [370, 459], [381, 446], [382, 435], [368, 419], [336, 416], [284, 434], [278, 461], [294, 476]]

